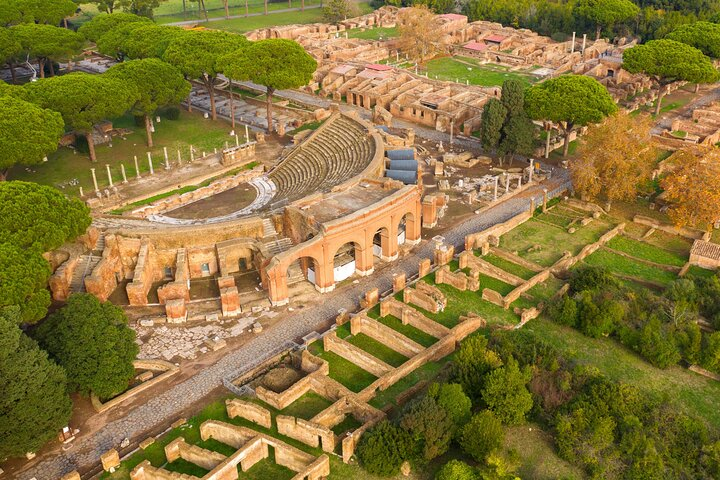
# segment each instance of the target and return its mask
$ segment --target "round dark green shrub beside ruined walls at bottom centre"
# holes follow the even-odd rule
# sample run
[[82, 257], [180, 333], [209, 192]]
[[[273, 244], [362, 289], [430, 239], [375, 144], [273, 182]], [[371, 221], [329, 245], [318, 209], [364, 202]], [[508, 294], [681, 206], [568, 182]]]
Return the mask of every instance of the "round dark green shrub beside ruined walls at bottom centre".
[[405, 430], [383, 420], [361, 437], [357, 455], [369, 473], [392, 477], [410, 456], [412, 443]]

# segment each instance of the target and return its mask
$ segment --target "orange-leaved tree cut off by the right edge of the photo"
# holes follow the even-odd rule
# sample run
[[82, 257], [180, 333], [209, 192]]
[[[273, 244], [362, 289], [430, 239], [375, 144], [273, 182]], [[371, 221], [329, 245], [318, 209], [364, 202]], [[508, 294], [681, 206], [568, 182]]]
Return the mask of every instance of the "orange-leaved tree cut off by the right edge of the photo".
[[660, 182], [668, 214], [678, 226], [706, 228], [720, 219], [720, 148], [678, 150], [668, 162], [673, 170]]

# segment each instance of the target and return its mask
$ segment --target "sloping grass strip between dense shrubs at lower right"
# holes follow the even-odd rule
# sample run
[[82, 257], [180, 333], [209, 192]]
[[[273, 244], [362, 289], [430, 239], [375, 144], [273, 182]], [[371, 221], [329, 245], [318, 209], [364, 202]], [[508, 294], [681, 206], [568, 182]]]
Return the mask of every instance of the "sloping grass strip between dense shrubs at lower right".
[[704, 419], [720, 431], [720, 409], [717, 408], [720, 382], [679, 366], [666, 370], [655, 368], [616, 340], [586, 337], [544, 317], [533, 320], [523, 329], [555, 346], [564, 356], [598, 368], [612, 380], [667, 397], [681, 410]]

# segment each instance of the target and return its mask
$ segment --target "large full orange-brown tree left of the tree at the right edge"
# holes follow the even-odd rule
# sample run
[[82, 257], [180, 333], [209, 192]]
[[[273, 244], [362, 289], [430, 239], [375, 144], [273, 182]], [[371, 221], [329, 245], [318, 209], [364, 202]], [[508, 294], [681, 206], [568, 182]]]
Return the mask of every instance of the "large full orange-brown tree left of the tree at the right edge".
[[584, 198], [632, 200], [650, 178], [657, 150], [650, 137], [650, 117], [618, 113], [590, 127], [578, 158], [570, 162], [575, 190]]

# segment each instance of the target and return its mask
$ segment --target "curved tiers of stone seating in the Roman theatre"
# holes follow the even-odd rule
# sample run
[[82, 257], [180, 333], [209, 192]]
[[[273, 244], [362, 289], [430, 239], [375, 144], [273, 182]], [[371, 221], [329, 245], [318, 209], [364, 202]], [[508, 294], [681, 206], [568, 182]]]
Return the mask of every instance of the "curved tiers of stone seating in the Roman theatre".
[[295, 200], [330, 191], [360, 174], [372, 161], [374, 144], [361, 124], [343, 116], [329, 122], [270, 172], [277, 197]]

